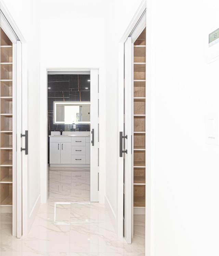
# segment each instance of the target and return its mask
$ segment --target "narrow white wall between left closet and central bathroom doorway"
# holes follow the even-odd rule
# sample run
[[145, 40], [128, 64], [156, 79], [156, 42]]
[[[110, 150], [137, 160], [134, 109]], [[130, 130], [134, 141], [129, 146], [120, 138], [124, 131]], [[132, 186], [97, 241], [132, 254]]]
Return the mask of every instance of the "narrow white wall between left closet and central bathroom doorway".
[[[35, 1], [3, 0], [2, 3], [11, 14], [18, 30], [20, 30], [27, 43], [26, 61], [28, 68], [23, 70], [27, 74], [28, 124], [23, 127], [29, 130], [29, 155], [28, 155], [28, 216], [34, 210], [40, 192], [39, 172], [39, 19], [38, 5]], [[22, 14], [22, 15], [21, 15]], [[23, 42], [24, 42], [23, 40]], [[33, 219], [32, 219], [33, 220]], [[30, 226], [31, 223], [29, 223]]]

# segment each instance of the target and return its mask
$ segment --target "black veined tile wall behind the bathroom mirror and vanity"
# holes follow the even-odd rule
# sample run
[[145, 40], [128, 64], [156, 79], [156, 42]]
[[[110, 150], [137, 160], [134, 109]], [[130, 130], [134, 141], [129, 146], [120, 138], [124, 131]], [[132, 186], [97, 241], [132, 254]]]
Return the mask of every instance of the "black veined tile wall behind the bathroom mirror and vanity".
[[[70, 131], [71, 125], [53, 123], [53, 102], [90, 101], [90, 82], [88, 80], [90, 80], [90, 75], [48, 75], [48, 135], [51, 135], [51, 131]], [[77, 126], [80, 131], [90, 131], [89, 125]]]

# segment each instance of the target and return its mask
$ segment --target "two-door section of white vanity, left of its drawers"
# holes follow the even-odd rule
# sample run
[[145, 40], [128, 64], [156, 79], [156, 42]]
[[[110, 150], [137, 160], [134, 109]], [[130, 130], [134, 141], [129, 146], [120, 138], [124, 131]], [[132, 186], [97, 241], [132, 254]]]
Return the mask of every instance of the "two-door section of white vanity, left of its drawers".
[[71, 138], [50, 137], [50, 163], [71, 163], [71, 146]]

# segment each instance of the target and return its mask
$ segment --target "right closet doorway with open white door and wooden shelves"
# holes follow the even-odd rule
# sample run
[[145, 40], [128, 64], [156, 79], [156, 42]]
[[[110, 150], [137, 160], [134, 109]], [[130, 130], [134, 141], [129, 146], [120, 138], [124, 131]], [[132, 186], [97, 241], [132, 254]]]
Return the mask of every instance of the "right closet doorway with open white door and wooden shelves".
[[144, 12], [124, 43], [124, 130], [120, 132], [120, 157], [124, 158], [123, 219], [124, 237], [128, 244], [139, 235], [140, 230], [145, 237], [145, 25]]

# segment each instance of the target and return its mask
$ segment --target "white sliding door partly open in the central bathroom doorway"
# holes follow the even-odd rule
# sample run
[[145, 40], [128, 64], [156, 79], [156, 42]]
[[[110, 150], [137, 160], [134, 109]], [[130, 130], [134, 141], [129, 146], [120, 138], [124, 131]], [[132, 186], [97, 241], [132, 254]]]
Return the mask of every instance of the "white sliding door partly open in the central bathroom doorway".
[[99, 125], [98, 125], [98, 69], [90, 71], [90, 201], [99, 202], [99, 172], [98, 172], [98, 148], [99, 148]]

